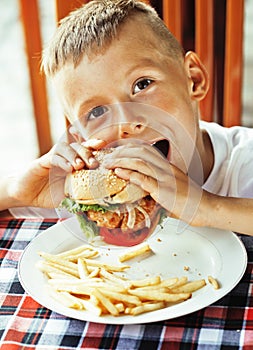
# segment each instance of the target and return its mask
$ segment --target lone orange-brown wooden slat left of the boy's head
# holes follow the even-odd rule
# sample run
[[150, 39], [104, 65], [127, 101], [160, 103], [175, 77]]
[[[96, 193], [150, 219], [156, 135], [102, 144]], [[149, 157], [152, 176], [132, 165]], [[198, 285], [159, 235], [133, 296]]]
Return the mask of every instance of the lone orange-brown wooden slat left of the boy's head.
[[52, 147], [46, 82], [40, 74], [41, 33], [36, 0], [19, 0], [40, 155]]

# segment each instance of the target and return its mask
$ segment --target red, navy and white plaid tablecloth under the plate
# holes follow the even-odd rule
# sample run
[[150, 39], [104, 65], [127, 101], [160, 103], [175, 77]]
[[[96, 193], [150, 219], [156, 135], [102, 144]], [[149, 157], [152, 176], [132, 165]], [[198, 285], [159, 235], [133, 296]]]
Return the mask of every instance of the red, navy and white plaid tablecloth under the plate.
[[1, 220], [0, 349], [253, 349], [253, 237], [241, 239], [249, 263], [240, 283], [210, 307], [184, 317], [139, 325], [70, 319], [28, 296], [18, 261], [32, 238], [53, 220]]

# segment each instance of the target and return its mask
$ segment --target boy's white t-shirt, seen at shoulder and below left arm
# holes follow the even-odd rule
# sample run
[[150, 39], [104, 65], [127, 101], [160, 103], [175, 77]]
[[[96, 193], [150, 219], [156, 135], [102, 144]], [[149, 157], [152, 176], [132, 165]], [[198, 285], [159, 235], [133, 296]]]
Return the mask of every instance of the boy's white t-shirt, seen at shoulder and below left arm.
[[[203, 189], [222, 196], [253, 198], [253, 129], [200, 122], [211, 139], [214, 166]], [[69, 217], [66, 211], [12, 208], [14, 217]]]

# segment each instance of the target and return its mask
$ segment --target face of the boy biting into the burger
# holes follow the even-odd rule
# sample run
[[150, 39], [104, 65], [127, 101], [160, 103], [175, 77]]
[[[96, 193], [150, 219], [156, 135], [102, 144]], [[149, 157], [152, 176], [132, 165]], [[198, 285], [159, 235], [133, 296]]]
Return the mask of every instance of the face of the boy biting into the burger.
[[[189, 61], [189, 62], [188, 62]], [[176, 61], [149, 27], [128, 21], [104, 52], [66, 64], [54, 77], [64, 111], [84, 139], [112, 144], [170, 142], [168, 159], [186, 169], [196, 146], [194, 62]]]

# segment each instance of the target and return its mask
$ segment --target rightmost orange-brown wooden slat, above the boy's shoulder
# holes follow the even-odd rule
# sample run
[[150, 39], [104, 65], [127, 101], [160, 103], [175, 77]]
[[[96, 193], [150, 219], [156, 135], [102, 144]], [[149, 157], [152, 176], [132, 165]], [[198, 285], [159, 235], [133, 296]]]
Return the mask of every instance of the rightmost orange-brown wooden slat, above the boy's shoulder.
[[223, 125], [241, 124], [244, 0], [227, 0]]

